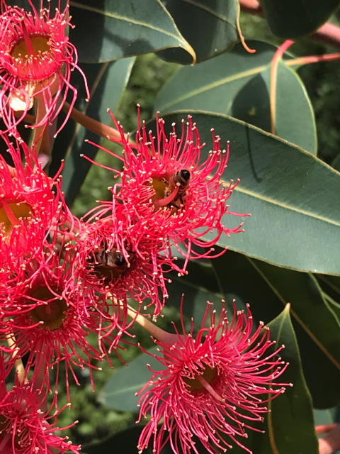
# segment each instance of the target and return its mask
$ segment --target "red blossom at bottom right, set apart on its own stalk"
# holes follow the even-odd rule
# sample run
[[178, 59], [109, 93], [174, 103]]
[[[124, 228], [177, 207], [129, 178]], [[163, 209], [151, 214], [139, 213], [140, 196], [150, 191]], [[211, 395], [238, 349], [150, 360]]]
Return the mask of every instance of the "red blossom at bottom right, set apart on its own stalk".
[[[210, 318], [209, 327], [207, 321]], [[249, 307], [236, 311], [231, 320], [222, 306], [216, 316], [208, 303], [197, 335], [157, 335], [164, 358], [154, 357], [165, 366], [152, 371], [151, 380], [138, 394], [140, 419], [151, 416], [143, 429], [138, 449], [152, 443], [159, 454], [169, 441], [176, 454], [198, 453], [199, 440], [208, 453], [225, 451], [236, 443], [246, 450], [239, 438], [254, 421], [262, 421], [266, 402], [278, 397], [290, 384], [277, 383], [288, 366], [278, 358], [276, 343], [269, 329], [260, 323], [254, 327]], [[268, 350], [269, 349], [269, 350]]]

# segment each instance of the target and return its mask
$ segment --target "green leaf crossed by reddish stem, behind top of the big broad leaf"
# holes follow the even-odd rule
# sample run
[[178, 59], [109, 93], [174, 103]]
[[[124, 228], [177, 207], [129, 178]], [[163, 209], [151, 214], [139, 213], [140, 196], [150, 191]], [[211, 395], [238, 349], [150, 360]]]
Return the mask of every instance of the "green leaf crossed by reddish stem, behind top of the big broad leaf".
[[[273, 45], [250, 41], [257, 51], [247, 54], [242, 45], [194, 67], [183, 67], [157, 96], [155, 109], [202, 109], [228, 114], [271, 131], [269, 109]], [[302, 80], [284, 63], [276, 81], [276, 135], [310, 153], [317, 153], [314, 112]]]

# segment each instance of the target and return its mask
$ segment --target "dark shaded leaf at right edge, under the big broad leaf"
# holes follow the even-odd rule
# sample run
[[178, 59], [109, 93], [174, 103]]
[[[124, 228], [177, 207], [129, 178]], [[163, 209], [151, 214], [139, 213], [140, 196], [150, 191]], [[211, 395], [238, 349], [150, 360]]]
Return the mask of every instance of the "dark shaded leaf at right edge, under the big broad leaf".
[[[291, 304], [290, 314], [297, 327], [302, 365], [314, 406], [336, 404], [340, 399], [340, 325], [317, 280], [306, 273], [249, 261], [282, 304]], [[316, 374], [316, 369], [323, 372]]]

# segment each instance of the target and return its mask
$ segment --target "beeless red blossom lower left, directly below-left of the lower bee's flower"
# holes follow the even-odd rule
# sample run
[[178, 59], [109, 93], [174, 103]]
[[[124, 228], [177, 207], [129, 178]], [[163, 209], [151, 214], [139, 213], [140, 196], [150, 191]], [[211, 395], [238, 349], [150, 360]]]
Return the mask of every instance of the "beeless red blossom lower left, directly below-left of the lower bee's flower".
[[[26, 375], [34, 370], [37, 387], [45, 385], [50, 389], [49, 370], [54, 366], [57, 388], [60, 363], [64, 362], [69, 394], [69, 376], [79, 384], [75, 372], [79, 367], [89, 367], [94, 387], [92, 370], [98, 367], [92, 361], [103, 360], [106, 343], [115, 345], [119, 337], [111, 334], [111, 327], [94, 310], [86, 288], [74, 282], [73, 250], [63, 250], [60, 256], [55, 253], [52, 258], [47, 255], [45, 260], [46, 266], [31, 262], [26, 267], [26, 273], [34, 278], [28, 287], [17, 292], [12, 300], [13, 316], [3, 321], [2, 327], [13, 333], [13, 348], [18, 349], [18, 355], [27, 355]], [[98, 336], [98, 348], [87, 341], [89, 333]], [[1, 338], [5, 343], [6, 331]]]

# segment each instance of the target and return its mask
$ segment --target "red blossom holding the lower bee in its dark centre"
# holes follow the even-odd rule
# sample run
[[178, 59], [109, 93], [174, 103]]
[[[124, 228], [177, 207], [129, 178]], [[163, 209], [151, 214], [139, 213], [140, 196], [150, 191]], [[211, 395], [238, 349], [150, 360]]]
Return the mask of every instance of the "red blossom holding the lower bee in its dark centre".
[[[82, 226], [74, 275], [92, 289], [94, 299], [95, 293], [102, 301], [126, 301], [130, 297], [143, 303], [145, 309], [153, 306], [157, 316], [168, 297], [169, 279], [164, 272], [175, 265], [160, 255], [164, 240], [149, 231], [146, 221], [134, 223], [133, 210], [129, 214], [129, 209], [117, 203], [94, 209], [89, 222]], [[108, 216], [101, 217], [107, 212]], [[90, 223], [93, 218], [96, 221]], [[125, 307], [122, 302], [117, 308], [121, 304]]]

